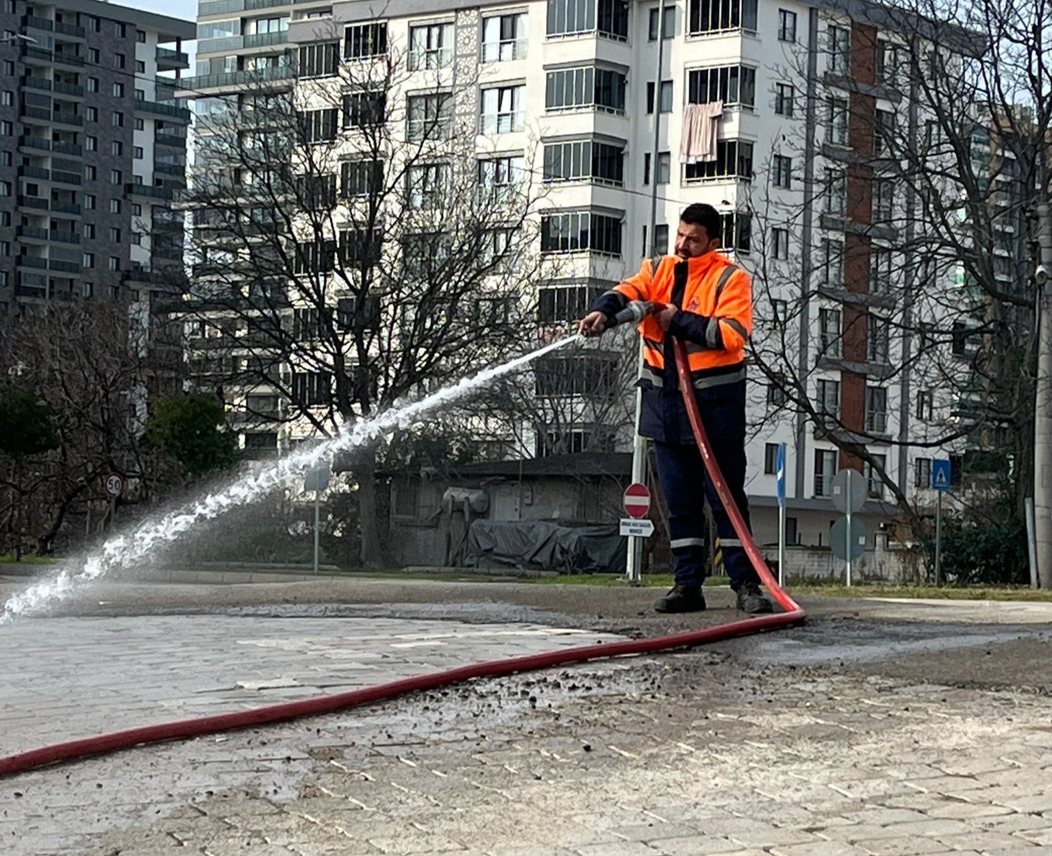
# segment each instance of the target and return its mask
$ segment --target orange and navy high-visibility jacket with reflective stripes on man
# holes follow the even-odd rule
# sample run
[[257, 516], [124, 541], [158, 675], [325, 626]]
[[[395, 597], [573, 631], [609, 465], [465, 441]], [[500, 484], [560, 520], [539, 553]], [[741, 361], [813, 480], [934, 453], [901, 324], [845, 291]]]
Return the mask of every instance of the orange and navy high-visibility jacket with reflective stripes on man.
[[[644, 260], [630, 277], [595, 302], [608, 312], [628, 301], [674, 303], [676, 312], [668, 332], [681, 339], [695, 389], [733, 383], [745, 378], [745, 346], [752, 334], [752, 287], [749, 274], [721, 252], [696, 259], [666, 256]], [[675, 385], [665, 370], [666, 333], [658, 320], [640, 324], [644, 344], [641, 381], [654, 386]], [[669, 355], [671, 360], [671, 355]]]

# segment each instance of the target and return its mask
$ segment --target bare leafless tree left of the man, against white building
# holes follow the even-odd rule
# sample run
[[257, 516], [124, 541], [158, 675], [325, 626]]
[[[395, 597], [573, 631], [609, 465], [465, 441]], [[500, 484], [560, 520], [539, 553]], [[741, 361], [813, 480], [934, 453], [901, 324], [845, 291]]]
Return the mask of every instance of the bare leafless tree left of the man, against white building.
[[[330, 434], [499, 361], [533, 319], [531, 154], [477, 152], [487, 123], [521, 117], [480, 127], [448, 57], [399, 55], [379, 24], [366, 41], [341, 58], [320, 29], [295, 75], [198, 101], [191, 368], [269, 431]], [[356, 456], [366, 566], [376, 462]]]

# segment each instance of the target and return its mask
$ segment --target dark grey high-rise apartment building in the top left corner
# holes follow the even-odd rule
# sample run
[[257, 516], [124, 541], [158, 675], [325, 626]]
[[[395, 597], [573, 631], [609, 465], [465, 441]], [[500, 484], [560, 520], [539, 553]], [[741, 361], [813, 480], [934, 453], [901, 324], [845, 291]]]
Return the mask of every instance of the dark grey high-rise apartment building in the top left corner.
[[182, 266], [173, 101], [193, 21], [99, 0], [0, 6], [0, 303], [148, 307]]

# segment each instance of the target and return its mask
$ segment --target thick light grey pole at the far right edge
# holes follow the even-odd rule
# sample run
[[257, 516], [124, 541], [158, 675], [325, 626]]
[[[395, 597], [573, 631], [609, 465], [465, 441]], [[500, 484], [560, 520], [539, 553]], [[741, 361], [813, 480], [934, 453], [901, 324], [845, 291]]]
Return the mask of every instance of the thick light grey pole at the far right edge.
[[[1041, 185], [1043, 187], [1045, 184]], [[1034, 401], [1034, 542], [1037, 584], [1052, 588], [1052, 210], [1037, 208], [1040, 266], [1037, 276], [1037, 380]]]

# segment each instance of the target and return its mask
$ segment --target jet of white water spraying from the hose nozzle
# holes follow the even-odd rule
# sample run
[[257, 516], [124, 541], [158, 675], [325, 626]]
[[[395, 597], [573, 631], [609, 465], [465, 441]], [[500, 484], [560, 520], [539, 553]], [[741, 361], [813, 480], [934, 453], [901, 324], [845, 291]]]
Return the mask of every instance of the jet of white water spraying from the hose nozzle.
[[440, 410], [491, 381], [510, 374], [538, 358], [579, 339], [580, 337], [573, 335], [552, 342], [531, 353], [487, 368], [471, 378], [465, 378], [419, 401], [407, 402], [376, 416], [348, 423], [339, 434], [327, 441], [294, 452], [259, 472], [243, 475], [223, 489], [209, 493], [203, 500], [164, 514], [159, 519], [148, 521], [133, 532], [112, 537], [83, 562], [63, 568], [55, 576], [36, 583], [7, 598], [3, 611], [0, 612], [0, 625], [17, 615], [40, 612], [68, 597], [84, 585], [112, 571], [141, 562], [162, 544], [176, 541], [189, 532], [197, 523], [218, 517], [232, 508], [259, 500], [272, 490], [288, 487], [305, 470], [330, 460], [337, 452], [363, 446], [397, 429], [409, 428], [426, 413]]

